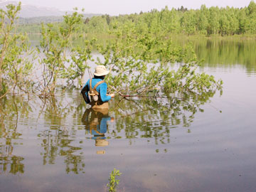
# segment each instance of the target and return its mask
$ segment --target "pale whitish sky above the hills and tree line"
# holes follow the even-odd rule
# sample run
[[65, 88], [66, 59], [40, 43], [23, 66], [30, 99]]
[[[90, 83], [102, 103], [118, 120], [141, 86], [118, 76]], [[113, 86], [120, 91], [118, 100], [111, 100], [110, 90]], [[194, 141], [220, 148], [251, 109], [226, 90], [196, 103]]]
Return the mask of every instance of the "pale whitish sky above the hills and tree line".
[[[18, 1], [18, 0], [12, 0]], [[20, 0], [23, 4], [47, 6], [62, 9], [64, 11], [85, 9], [85, 13], [110, 14], [134, 14], [140, 11], [146, 12], [151, 9], [161, 10], [165, 6], [178, 8], [184, 6], [188, 9], [200, 9], [202, 4], [210, 6], [234, 6], [245, 7], [251, 0]]]

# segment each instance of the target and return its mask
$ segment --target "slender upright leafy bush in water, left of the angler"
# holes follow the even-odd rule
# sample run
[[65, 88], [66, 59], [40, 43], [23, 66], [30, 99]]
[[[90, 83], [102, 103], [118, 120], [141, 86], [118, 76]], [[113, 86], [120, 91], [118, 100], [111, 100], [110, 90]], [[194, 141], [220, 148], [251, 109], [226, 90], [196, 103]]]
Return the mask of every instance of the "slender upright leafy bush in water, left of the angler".
[[72, 15], [65, 15], [63, 23], [53, 25], [42, 23], [42, 40], [38, 48], [41, 55], [38, 62], [43, 66], [42, 82], [38, 85], [41, 94], [53, 95], [58, 78], [66, 75], [65, 63], [68, 61], [67, 52], [71, 46], [70, 38], [78, 31], [82, 22], [82, 14], [74, 12]]

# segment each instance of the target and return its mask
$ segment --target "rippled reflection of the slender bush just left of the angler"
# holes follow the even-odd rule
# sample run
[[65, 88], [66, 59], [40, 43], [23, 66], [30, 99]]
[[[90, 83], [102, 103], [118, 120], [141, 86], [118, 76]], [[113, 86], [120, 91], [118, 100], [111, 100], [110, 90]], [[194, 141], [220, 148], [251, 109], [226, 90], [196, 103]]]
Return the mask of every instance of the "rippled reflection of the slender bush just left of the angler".
[[[70, 90], [66, 90], [69, 92]], [[41, 139], [43, 147], [43, 165], [55, 164], [56, 157], [63, 156], [66, 173], [73, 172], [74, 174], [85, 172], [85, 163], [83, 161], [82, 149], [80, 146], [75, 146], [76, 129], [75, 122], [68, 127], [69, 115], [75, 117], [81, 106], [77, 105], [76, 100], [68, 100], [67, 97], [50, 97], [44, 100], [43, 117], [45, 122], [49, 124], [49, 129], [45, 129], [38, 137]], [[76, 119], [76, 118], [73, 118]], [[80, 154], [78, 154], [80, 152]]]

